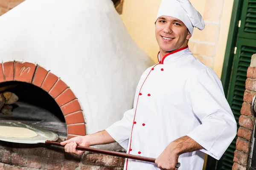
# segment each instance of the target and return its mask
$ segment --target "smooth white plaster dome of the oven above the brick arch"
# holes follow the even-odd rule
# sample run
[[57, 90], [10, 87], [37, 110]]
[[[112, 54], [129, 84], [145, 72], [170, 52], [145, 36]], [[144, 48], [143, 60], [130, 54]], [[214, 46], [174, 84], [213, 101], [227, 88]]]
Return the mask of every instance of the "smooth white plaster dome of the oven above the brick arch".
[[26, 0], [0, 17], [0, 60], [26, 61], [60, 77], [79, 99], [87, 134], [132, 108], [154, 63], [135, 44], [111, 0]]

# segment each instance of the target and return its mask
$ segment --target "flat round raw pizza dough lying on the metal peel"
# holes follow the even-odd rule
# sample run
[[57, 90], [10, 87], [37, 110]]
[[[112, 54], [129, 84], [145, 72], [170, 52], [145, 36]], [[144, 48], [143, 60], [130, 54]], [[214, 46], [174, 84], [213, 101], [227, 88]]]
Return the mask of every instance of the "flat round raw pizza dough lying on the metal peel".
[[0, 126], [0, 136], [8, 138], [33, 138], [38, 136], [38, 134], [24, 127]]

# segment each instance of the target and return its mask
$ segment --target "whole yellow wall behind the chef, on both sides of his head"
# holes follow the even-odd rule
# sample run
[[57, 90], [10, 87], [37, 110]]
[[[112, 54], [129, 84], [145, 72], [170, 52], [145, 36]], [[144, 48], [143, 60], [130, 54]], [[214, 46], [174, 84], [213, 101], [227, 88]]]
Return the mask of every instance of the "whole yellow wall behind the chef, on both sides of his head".
[[[134, 41], [157, 62], [154, 22], [160, 0], [124, 0], [120, 15]], [[191, 0], [203, 16], [203, 31], [194, 29], [189, 40], [192, 53], [221, 77], [233, 0]]]

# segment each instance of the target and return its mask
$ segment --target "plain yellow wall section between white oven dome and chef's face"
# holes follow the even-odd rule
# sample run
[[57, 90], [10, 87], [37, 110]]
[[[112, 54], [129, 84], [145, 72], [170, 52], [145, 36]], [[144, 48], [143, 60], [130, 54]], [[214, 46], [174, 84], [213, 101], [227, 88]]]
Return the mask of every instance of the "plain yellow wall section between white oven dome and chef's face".
[[124, 0], [120, 15], [131, 37], [155, 62], [159, 48], [154, 22], [159, 6], [160, 0]]

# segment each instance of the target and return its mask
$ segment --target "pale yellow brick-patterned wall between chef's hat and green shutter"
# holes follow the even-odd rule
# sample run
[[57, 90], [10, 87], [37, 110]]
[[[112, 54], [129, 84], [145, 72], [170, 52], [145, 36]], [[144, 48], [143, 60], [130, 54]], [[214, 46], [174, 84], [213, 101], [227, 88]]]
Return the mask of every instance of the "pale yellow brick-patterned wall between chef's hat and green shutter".
[[[199, 1], [191, 0], [191, 2], [197, 5]], [[201, 62], [210, 68], [214, 68], [224, 3], [223, 0], [218, 0], [218, 3], [215, 0], [206, 0], [201, 3], [205, 3], [204, 6], [198, 6], [197, 9], [201, 11], [204, 18], [205, 28], [203, 31], [199, 31], [197, 28], [194, 29], [193, 36], [189, 40], [189, 49]]]

